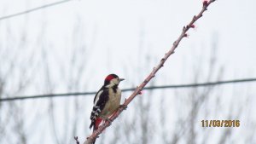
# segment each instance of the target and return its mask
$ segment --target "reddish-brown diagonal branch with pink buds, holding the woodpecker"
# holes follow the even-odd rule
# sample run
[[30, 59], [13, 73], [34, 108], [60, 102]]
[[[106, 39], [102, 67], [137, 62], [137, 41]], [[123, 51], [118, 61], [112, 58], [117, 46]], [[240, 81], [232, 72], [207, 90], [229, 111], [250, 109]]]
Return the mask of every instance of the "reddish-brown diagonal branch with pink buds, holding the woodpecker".
[[[140, 84], [139, 86], [137, 86], [137, 89], [135, 89], [135, 91], [131, 94], [131, 96], [128, 99], [125, 99], [125, 102], [123, 105], [127, 106], [137, 95], [141, 94], [142, 89], [148, 84], [148, 82], [152, 78], [154, 78], [155, 73], [158, 72], [162, 66], [164, 66], [168, 57], [170, 55], [174, 54], [174, 50], [177, 48], [177, 45], [181, 42], [183, 37], [188, 37], [188, 34], [186, 32], [188, 32], [190, 28], [195, 27], [195, 25], [194, 25], [195, 21], [199, 20], [202, 17], [202, 14], [207, 10], [207, 7], [214, 1], [215, 0], [209, 0], [209, 1], [205, 0], [203, 2], [203, 7], [202, 7], [200, 13], [193, 17], [193, 19], [189, 22], [189, 25], [183, 26], [183, 31], [180, 34], [180, 36], [177, 38], [177, 40], [172, 44], [172, 48], [160, 60], [160, 63], [153, 68], [152, 72], [150, 72], [148, 77], [145, 78], [143, 83]], [[118, 109], [118, 111], [115, 112], [110, 119], [113, 121], [115, 118], [118, 118], [119, 114], [123, 111], [124, 111], [124, 107], [120, 107]], [[84, 144], [91, 144], [93, 141], [95, 141], [96, 138], [98, 137], [98, 135], [100, 135], [102, 133], [102, 131], [105, 130], [109, 125], [110, 125], [110, 123], [108, 121], [106, 121], [104, 124], [102, 124], [96, 131], [94, 131], [89, 137], [87, 137], [87, 140], [84, 141]]]

